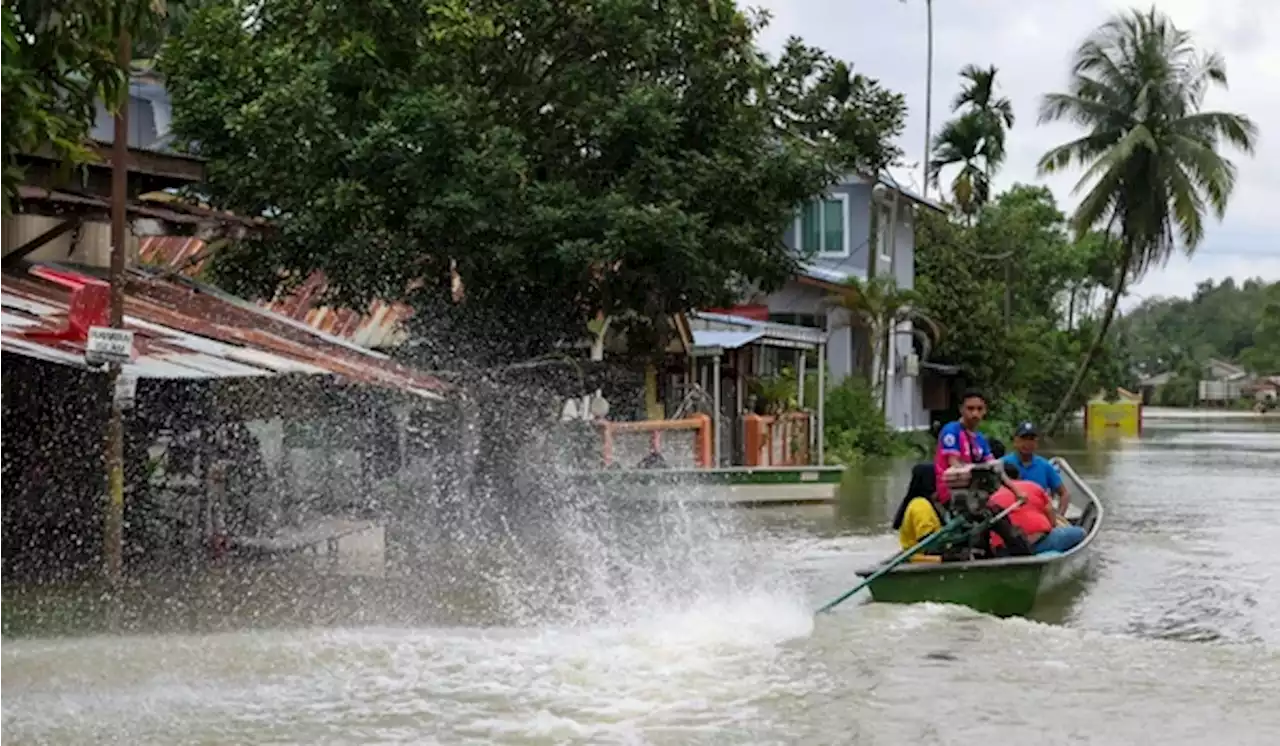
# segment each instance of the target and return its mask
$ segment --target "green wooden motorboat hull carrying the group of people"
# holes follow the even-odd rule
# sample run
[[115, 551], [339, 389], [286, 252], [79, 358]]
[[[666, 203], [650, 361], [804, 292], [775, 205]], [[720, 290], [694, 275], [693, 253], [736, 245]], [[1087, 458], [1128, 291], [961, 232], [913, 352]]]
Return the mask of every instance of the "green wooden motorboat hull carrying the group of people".
[[[1084, 528], [1084, 540], [1069, 552], [1032, 557], [1006, 557], [973, 562], [905, 563], [872, 581], [872, 599], [883, 603], [934, 601], [960, 604], [997, 617], [1023, 615], [1037, 599], [1076, 580], [1088, 566], [1093, 541], [1102, 528], [1103, 509], [1098, 496], [1065, 459], [1053, 464], [1073, 482], [1068, 520]], [[859, 571], [868, 577], [878, 568]]]

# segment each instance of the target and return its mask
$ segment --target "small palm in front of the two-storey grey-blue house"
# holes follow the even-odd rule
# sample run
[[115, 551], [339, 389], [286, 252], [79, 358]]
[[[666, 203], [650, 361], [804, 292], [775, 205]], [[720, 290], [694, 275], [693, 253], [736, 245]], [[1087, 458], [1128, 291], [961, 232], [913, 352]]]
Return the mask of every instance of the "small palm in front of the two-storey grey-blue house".
[[[864, 372], [878, 392], [882, 413], [888, 408], [884, 383], [888, 381], [890, 339], [897, 334], [919, 339], [924, 352], [922, 357], [928, 357], [933, 343], [942, 335], [942, 328], [919, 311], [916, 302], [915, 290], [899, 288], [892, 275], [874, 275], [868, 280], [850, 278], [842, 292], [828, 296], [823, 302], [827, 308], [847, 311], [850, 325], [867, 333], [872, 354]], [[911, 330], [902, 330], [908, 324]], [[879, 362], [878, 371], [872, 370], [870, 361]]]

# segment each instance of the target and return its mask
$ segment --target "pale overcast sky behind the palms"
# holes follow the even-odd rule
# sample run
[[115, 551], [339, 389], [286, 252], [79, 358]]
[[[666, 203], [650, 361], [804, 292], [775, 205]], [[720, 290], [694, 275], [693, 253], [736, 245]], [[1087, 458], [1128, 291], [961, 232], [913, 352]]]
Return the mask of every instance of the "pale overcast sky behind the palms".
[[[800, 36], [849, 60], [855, 70], [878, 78], [906, 95], [910, 109], [901, 146], [919, 163], [924, 151], [924, 0], [744, 0], [767, 9], [773, 22], [762, 40], [777, 51], [788, 36]], [[1215, 92], [1208, 109], [1244, 113], [1261, 129], [1260, 147], [1249, 159], [1229, 151], [1239, 168], [1235, 194], [1222, 223], [1210, 221], [1193, 258], [1175, 256], [1152, 270], [1124, 306], [1149, 296], [1188, 296], [1196, 283], [1215, 278], [1262, 276], [1280, 280], [1280, 175], [1272, 173], [1280, 141], [1280, 10], [1274, 0], [1160, 0], [1161, 10], [1190, 31], [1202, 49], [1226, 56], [1231, 87]], [[997, 189], [1015, 182], [1044, 183], [1065, 209], [1074, 206], [1078, 173], [1041, 179], [1036, 161], [1078, 131], [1069, 124], [1037, 125], [1039, 96], [1066, 87], [1068, 65], [1079, 42], [1111, 14], [1134, 5], [1108, 0], [934, 0], [933, 125], [951, 115], [965, 64], [996, 65], [1002, 93], [1014, 102], [1018, 122], [1009, 136], [1009, 160]], [[1148, 5], [1138, 5], [1147, 8]], [[919, 168], [895, 171], [919, 187]], [[910, 179], [910, 180], [908, 180]], [[943, 173], [943, 187], [948, 175]]]

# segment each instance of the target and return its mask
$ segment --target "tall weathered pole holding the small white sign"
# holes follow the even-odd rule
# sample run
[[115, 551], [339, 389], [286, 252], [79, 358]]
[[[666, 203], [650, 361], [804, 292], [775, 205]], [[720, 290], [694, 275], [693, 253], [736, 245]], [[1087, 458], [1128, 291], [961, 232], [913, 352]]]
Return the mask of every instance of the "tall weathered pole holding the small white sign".
[[[113, 329], [124, 326], [124, 252], [128, 237], [125, 201], [129, 188], [129, 32], [120, 19], [116, 40], [116, 64], [124, 74], [124, 96], [115, 114], [115, 132], [111, 142], [111, 306]], [[111, 397], [111, 418], [106, 427], [106, 520], [102, 550], [106, 558], [106, 577], [113, 586], [119, 585], [124, 567], [124, 422], [120, 402], [115, 395], [115, 383], [120, 377], [120, 365], [113, 362], [108, 372], [108, 394]]]

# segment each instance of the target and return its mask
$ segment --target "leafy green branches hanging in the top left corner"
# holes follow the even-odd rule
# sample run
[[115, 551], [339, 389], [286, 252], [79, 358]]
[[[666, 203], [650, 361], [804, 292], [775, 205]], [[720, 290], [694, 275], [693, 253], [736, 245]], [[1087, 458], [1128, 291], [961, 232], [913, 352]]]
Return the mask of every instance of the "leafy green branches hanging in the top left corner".
[[0, 216], [23, 180], [19, 156], [49, 147], [69, 164], [95, 160], [96, 105], [127, 90], [116, 63], [122, 31], [146, 32], [155, 0], [9, 0], [0, 4]]

